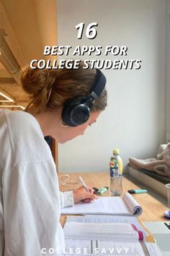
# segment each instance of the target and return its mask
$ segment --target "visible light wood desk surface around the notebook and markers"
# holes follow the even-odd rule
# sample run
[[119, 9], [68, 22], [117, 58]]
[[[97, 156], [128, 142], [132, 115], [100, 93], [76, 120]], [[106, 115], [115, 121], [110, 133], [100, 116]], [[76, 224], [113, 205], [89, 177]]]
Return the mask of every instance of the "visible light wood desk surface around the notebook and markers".
[[[60, 177], [62, 174], [59, 174]], [[95, 173], [95, 174], [69, 174], [71, 180], [78, 181], [78, 177], [81, 176], [86, 184], [90, 187], [109, 187], [109, 174], [108, 173]], [[123, 192], [127, 192], [128, 189], [138, 189], [139, 187], [130, 182], [128, 179], [123, 177], [122, 179]], [[63, 187], [60, 185], [61, 191], [68, 191], [69, 189], [76, 189], [80, 187], [80, 184], [75, 187]], [[109, 192], [104, 193], [104, 195], [108, 196]], [[104, 196], [102, 195], [102, 196]], [[136, 194], [133, 195], [135, 200], [138, 201], [139, 205], [143, 208], [143, 213], [139, 216], [141, 221], [167, 221], [164, 218], [164, 211], [167, 210], [167, 206], [163, 205], [161, 202], [156, 200], [154, 197], [146, 194]], [[65, 221], [66, 217], [63, 216], [61, 218], [61, 222]]]

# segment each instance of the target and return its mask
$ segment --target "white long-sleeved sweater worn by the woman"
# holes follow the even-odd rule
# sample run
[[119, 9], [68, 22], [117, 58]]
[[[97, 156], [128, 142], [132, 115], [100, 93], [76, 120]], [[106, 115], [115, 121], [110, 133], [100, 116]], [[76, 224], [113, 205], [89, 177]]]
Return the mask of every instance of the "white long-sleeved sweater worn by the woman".
[[0, 110], [0, 178], [0, 256], [63, 250], [61, 207], [73, 205], [73, 194], [59, 192], [55, 163], [34, 116]]

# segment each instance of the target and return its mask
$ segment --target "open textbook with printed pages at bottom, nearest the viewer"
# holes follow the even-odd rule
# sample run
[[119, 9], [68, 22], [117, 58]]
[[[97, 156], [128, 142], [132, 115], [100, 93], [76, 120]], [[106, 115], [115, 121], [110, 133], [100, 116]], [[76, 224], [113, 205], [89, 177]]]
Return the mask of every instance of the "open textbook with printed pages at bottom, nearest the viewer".
[[99, 216], [95, 216], [95, 223], [93, 216], [68, 217], [64, 226], [64, 255], [161, 256], [157, 244], [146, 242], [147, 234], [139, 231], [133, 223], [101, 221], [104, 220]]

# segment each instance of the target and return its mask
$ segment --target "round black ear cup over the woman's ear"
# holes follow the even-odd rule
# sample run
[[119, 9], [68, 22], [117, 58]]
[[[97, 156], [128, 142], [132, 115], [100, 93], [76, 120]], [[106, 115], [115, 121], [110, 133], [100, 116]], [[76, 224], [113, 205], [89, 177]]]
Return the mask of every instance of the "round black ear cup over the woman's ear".
[[90, 116], [90, 108], [86, 105], [86, 98], [72, 98], [64, 103], [61, 118], [64, 124], [76, 127], [86, 123]]

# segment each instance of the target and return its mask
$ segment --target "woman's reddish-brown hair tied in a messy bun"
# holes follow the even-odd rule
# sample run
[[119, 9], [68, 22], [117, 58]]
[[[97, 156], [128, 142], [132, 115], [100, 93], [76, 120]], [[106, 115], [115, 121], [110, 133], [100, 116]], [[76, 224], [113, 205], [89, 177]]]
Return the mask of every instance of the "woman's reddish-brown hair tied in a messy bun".
[[[22, 87], [30, 95], [26, 108], [31, 114], [38, 114], [46, 108], [57, 108], [70, 98], [88, 96], [96, 78], [95, 69], [25, 69], [22, 73]], [[91, 111], [103, 111], [107, 106], [107, 90], [104, 88], [94, 101]]]

